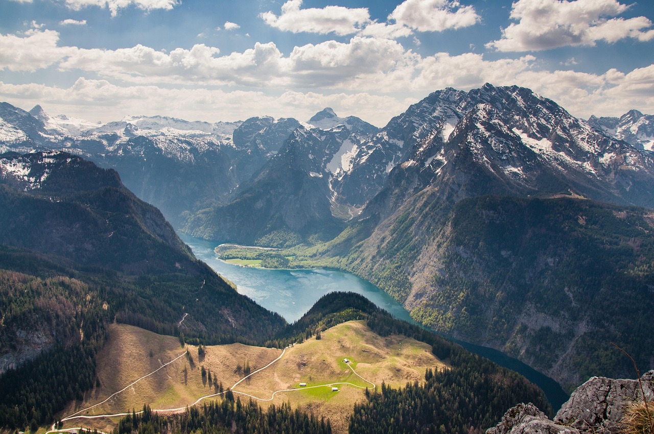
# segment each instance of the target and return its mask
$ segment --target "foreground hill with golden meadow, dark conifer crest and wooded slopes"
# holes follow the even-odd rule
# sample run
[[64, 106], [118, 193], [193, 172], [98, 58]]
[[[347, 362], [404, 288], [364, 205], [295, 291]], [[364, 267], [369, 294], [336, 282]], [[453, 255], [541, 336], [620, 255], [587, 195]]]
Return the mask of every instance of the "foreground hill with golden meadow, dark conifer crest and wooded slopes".
[[[392, 393], [399, 402], [410, 400], [416, 391], [437, 393], [438, 399], [427, 402], [437, 405], [438, 412], [424, 412], [427, 407], [415, 403], [400, 408], [409, 405], [415, 409], [413, 419], [429, 426], [445, 424], [452, 433], [479, 432], [522, 401], [551, 412], [542, 391], [525, 378], [421, 327], [394, 320], [353, 293], [325, 295], [300, 321], [268, 342], [296, 342], [283, 351], [243, 344], [187, 345], [187, 355], [173, 337], [128, 325], [114, 324], [110, 330], [99, 354], [96, 386], [83, 402], [71, 403], [61, 416], [64, 427], [82, 424], [106, 430], [118, 424], [121, 433], [162, 426], [179, 426], [184, 433], [198, 427], [221, 433], [267, 432], [266, 418], [281, 411], [284, 418], [307, 418], [309, 423], [313, 416], [305, 416], [307, 412], [318, 422], [324, 416], [330, 421], [327, 431], [333, 427], [346, 432], [354, 424], [365, 432], [362, 427], [378, 422], [362, 420], [374, 421], [394, 411], [380, 397]], [[148, 371], [152, 375], [146, 376]], [[339, 391], [332, 392], [332, 387]], [[216, 404], [186, 409], [203, 403], [201, 397]], [[100, 405], [90, 407], [96, 403]], [[143, 414], [118, 420], [121, 413], [144, 406]], [[162, 418], [152, 420], [154, 410]], [[116, 416], [110, 420], [103, 414]], [[261, 420], [256, 414], [267, 416]], [[65, 417], [71, 415], [90, 418]], [[282, 424], [274, 432], [287, 431]]]

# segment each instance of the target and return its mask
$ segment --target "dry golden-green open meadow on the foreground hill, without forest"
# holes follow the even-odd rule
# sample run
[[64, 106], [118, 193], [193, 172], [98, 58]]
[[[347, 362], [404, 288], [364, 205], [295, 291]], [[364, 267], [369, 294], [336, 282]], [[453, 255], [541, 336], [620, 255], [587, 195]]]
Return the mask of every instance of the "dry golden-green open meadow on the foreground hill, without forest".
[[[208, 375], [203, 378], [204, 367], [212, 378], [222, 382], [224, 388], [232, 386], [241, 376], [241, 368], [248, 365], [252, 372], [264, 367], [281, 354], [275, 348], [228, 344], [204, 346], [205, 355], [198, 356], [198, 347], [188, 345], [182, 348], [174, 337], [156, 335], [131, 325], [112, 324], [105, 346], [98, 354], [97, 378], [99, 386], [84, 395], [83, 401], [75, 401], [63, 411], [64, 415], [75, 414], [122, 390], [134, 380], [155, 371], [188, 350], [190, 358], [183, 356], [167, 365], [154, 375], [133, 384], [127, 390], [115, 395], [109, 401], [88, 411], [82, 416], [117, 414], [141, 409], [144, 404], [156, 409], [175, 409], [194, 403], [199, 397], [219, 392], [209, 385]], [[400, 335], [380, 337], [364, 322], [345, 322], [321, 333], [321, 339], [309, 339], [288, 348], [277, 363], [257, 373], [233, 389], [261, 399], [269, 399], [277, 390], [300, 388], [306, 382], [309, 388], [295, 392], [277, 393], [271, 401], [260, 401], [268, 405], [290, 403], [292, 408], [313, 411], [332, 421], [336, 432], [347, 432], [349, 414], [355, 402], [364, 400], [366, 386], [373, 385], [362, 380], [343, 362], [349, 358], [356, 373], [380, 387], [382, 382], [398, 388], [407, 382], [424, 380], [426, 369], [447, 367], [439, 361], [432, 348], [424, 342]], [[241, 372], [239, 374], [239, 372]], [[341, 385], [339, 392], [331, 392], [330, 386], [311, 388], [334, 382], [351, 382], [356, 386]], [[247, 395], [241, 398], [247, 401]], [[96, 427], [111, 431], [116, 418], [95, 420], [73, 419], [64, 426]], [[88, 425], [87, 425], [88, 424]]]

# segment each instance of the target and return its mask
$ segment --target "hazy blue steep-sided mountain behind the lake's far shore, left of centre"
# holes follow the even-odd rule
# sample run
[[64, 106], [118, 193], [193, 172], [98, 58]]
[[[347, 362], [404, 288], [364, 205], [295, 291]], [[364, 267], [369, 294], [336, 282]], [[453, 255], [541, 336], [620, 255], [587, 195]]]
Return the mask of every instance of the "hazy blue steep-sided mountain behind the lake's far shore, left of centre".
[[239, 186], [228, 205], [198, 212], [182, 230], [196, 237], [266, 246], [331, 239], [343, 223], [330, 210], [327, 165], [350, 136], [342, 125], [330, 131], [296, 129], [279, 154]]

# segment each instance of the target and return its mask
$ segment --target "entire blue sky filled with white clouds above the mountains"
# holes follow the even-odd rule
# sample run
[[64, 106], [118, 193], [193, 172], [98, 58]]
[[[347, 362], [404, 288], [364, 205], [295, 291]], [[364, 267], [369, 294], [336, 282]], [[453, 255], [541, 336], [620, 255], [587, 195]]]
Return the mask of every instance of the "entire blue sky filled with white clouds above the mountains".
[[92, 122], [332, 107], [382, 127], [489, 82], [581, 118], [654, 114], [653, 20], [653, 0], [0, 0], [0, 101]]

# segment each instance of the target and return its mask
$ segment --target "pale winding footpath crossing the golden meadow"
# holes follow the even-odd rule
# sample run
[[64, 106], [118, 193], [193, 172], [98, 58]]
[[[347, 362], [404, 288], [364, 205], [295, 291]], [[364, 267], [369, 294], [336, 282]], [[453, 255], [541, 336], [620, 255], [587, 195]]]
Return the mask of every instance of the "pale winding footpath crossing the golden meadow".
[[[183, 318], [182, 318], [182, 321], [183, 321]], [[269, 398], [256, 397], [256, 396], [254, 396], [254, 395], [250, 395], [249, 393], [238, 392], [238, 391], [236, 391], [236, 390], [233, 390], [236, 386], [238, 386], [239, 384], [241, 384], [241, 382], [243, 382], [244, 380], [246, 380], [246, 379], [249, 378], [250, 376], [252, 376], [252, 375], [254, 375], [254, 374], [256, 374], [256, 373], [259, 373], [259, 372], [261, 372], [261, 371], [264, 371], [264, 369], [267, 369], [268, 367], [270, 367], [271, 365], [273, 365], [274, 363], [276, 363], [277, 361], [279, 361], [279, 360], [284, 356], [285, 353], [286, 353], [286, 348], [284, 348], [284, 349], [282, 350], [282, 354], [280, 354], [278, 358], [274, 359], [273, 361], [271, 361], [270, 363], [268, 363], [266, 366], [264, 366], [264, 367], [262, 367], [262, 368], [260, 368], [260, 369], [257, 369], [256, 371], [250, 373], [249, 375], [244, 376], [243, 378], [241, 378], [240, 380], [238, 380], [237, 382], [235, 382], [235, 383], [233, 384], [233, 386], [232, 386], [231, 388], [229, 388], [228, 390], [232, 390], [232, 393], [238, 393], [239, 395], [244, 395], [244, 396], [250, 397], [250, 398], [252, 398], [252, 399], [256, 399], [257, 401], [272, 401], [272, 400], [275, 398], [275, 395], [277, 395], [277, 393], [282, 393], [282, 392], [296, 392], [296, 391], [298, 391], [298, 390], [315, 389], [315, 388], [322, 388], [322, 387], [332, 387], [332, 386], [336, 386], [336, 385], [339, 385], [339, 384], [345, 384], [345, 385], [353, 386], [353, 387], [355, 387], [355, 388], [359, 388], [359, 389], [366, 389], [366, 388], [368, 388], [368, 386], [359, 386], [358, 384], [353, 384], [353, 383], [351, 383], [351, 382], [334, 382], [334, 383], [328, 383], [328, 384], [319, 384], [319, 385], [317, 385], [317, 386], [308, 386], [308, 387], [301, 387], [301, 388], [294, 388], [294, 389], [276, 390], [275, 392], [273, 392], [273, 394], [272, 394], [271, 397], [269, 397]], [[71, 414], [70, 416], [66, 416], [65, 418], [62, 418], [62, 419], [61, 419], [61, 422], [66, 422], [67, 420], [73, 420], [73, 419], [113, 418], [113, 417], [120, 417], [120, 416], [128, 416], [129, 414], [141, 414], [143, 411], [138, 411], [138, 412], [135, 412], [135, 413], [133, 413], [133, 412], [125, 412], [125, 413], [114, 413], [114, 414], [97, 414], [97, 415], [94, 415], [94, 416], [86, 416], [86, 415], [82, 415], [82, 414], [80, 414], [80, 413], [85, 412], [85, 411], [88, 411], [88, 410], [90, 410], [90, 409], [93, 409], [94, 407], [97, 407], [97, 406], [99, 406], [99, 405], [102, 405], [102, 404], [106, 403], [107, 401], [109, 401], [109, 399], [111, 399], [112, 397], [118, 395], [118, 393], [121, 393], [121, 392], [124, 392], [125, 390], [128, 390], [131, 386], [133, 386], [133, 385], [136, 384], [137, 382], [143, 380], [144, 378], [147, 378], [148, 376], [150, 376], [150, 375], [156, 373], [157, 371], [159, 371], [159, 370], [162, 369], [163, 367], [166, 367], [167, 365], [170, 365], [170, 364], [173, 363], [174, 361], [177, 361], [178, 359], [180, 359], [180, 358], [182, 358], [182, 357], [184, 357], [184, 356], [186, 356], [186, 352], [183, 352], [182, 354], [180, 354], [180, 355], [177, 356], [176, 358], [172, 359], [171, 361], [169, 361], [169, 362], [167, 362], [167, 363], [161, 365], [160, 367], [158, 367], [158, 369], [155, 369], [155, 370], [152, 371], [151, 373], [149, 373], [149, 374], [147, 374], [147, 375], [144, 375], [144, 376], [142, 376], [141, 378], [139, 378], [139, 379], [137, 379], [137, 380], [131, 382], [130, 384], [128, 384], [128, 386], [125, 386], [124, 388], [122, 388], [122, 389], [119, 390], [118, 392], [112, 393], [112, 395], [110, 395], [110, 396], [109, 396], [107, 399], [105, 399], [104, 401], [102, 401], [102, 402], [100, 402], [100, 403], [97, 403], [97, 404], [94, 404], [94, 405], [92, 405], [92, 406], [90, 406], [90, 407], [86, 407], [85, 409], [78, 410], [77, 412]], [[347, 367], [349, 367], [349, 368], [351, 369], [351, 371], [354, 373], [354, 375], [358, 376], [359, 378], [361, 378], [361, 379], [364, 380], [365, 382], [371, 384], [373, 389], [376, 389], [376, 388], [377, 388], [377, 386], [375, 385], [375, 383], [371, 382], [370, 380], [366, 380], [366, 378], [364, 378], [364, 377], [358, 375], [358, 373], [356, 373], [356, 371], [354, 371], [354, 368], [351, 366], [350, 363], [347, 363]], [[211, 397], [216, 397], [216, 396], [218, 396], [218, 395], [223, 395], [223, 394], [226, 393], [226, 392], [227, 392], [227, 391], [224, 391], [224, 392], [218, 392], [218, 393], [213, 393], [213, 394], [211, 394], [211, 395], [205, 395], [205, 396], [203, 396], [203, 397], [199, 397], [198, 400], [195, 401], [194, 403], [192, 403], [192, 404], [190, 404], [190, 405], [186, 405], [186, 406], [184, 406], [184, 407], [178, 407], [177, 409], [152, 409], [152, 411], [153, 411], [153, 412], [158, 412], [158, 413], [160, 413], [160, 414], [175, 414], [175, 413], [183, 412], [183, 411], [185, 411], [186, 409], [188, 409], [189, 407], [193, 407], [194, 405], [200, 403], [200, 402], [203, 401], [204, 399], [211, 398]], [[83, 428], [83, 427], [73, 427], [73, 428], [55, 429], [55, 427], [54, 427], [54, 425], [53, 425], [53, 426], [50, 428], [50, 431], [47, 431], [46, 434], [51, 434], [51, 433], [63, 433], [63, 432], [72, 433], [72, 432], [78, 432], [80, 429], [85, 429], [85, 428]], [[100, 433], [100, 434], [108, 434], [108, 433], [103, 433], [102, 431], [97, 431], [97, 432]]]

